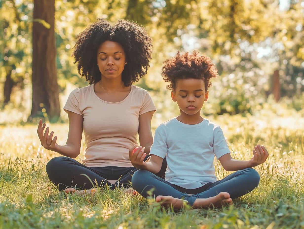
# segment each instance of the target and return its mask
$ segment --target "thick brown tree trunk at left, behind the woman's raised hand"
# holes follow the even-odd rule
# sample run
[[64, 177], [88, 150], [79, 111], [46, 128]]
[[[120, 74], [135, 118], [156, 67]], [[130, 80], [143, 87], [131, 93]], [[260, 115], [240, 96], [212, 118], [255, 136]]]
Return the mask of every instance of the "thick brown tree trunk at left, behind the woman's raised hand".
[[[43, 117], [41, 110], [45, 108], [49, 120], [56, 121], [60, 116], [60, 105], [55, 62], [55, 0], [34, 0], [33, 18], [33, 103], [30, 117]], [[35, 19], [46, 21], [50, 29]]]

